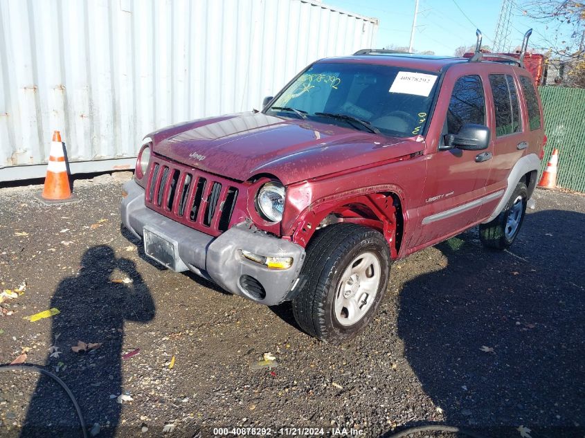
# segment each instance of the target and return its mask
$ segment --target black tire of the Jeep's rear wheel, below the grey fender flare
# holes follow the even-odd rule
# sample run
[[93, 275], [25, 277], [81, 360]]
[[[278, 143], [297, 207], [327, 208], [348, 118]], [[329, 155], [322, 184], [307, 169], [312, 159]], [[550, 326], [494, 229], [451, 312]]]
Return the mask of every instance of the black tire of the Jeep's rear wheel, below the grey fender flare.
[[[510, 233], [508, 230], [507, 233], [507, 221], [510, 215], [514, 214], [514, 204], [516, 201], [521, 201], [522, 206], [519, 214], [519, 223], [516, 226], [514, 232]], [[488, 222], [488, 223], [481, 223], [479, 226], [479, 238], [481, 243], [486, 246], [487, 248], [494, 248], [498, 250], [505, 250], [514, 242], [516, 236], [520, 232], [520, 228], [522, 227], [522, 223], [524, 222], [524, 217], [526, 215], [526, 203], [528, 201], [528, 189], [526, 188], [526, 184], [523, 181], [520, 181], [514, 192], [512, 192], [512, 196], [508, 199], [505, 208], [502, 212], [496, 217], [496, 219]]]

